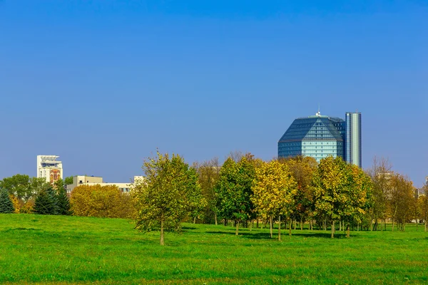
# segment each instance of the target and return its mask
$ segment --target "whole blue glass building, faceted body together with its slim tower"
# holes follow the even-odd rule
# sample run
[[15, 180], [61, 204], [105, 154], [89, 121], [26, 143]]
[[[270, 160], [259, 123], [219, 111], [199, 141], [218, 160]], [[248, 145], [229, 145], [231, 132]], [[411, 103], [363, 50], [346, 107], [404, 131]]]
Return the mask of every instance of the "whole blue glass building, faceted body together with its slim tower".
[[321, 115], [295, 119], [278, 141], [278, 158], [297, 155], [342, 157], [361, 167], [361, 113], [346, 113], [346, 120]]

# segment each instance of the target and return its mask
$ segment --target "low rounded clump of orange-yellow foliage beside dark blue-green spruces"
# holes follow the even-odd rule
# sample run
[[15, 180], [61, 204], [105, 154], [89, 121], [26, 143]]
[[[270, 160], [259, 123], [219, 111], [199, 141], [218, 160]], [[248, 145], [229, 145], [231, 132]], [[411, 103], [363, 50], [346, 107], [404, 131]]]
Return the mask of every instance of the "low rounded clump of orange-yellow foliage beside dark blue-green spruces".
[[127, 218], [133, 212], [128, 194], [116, 185], [80, 185], [71, 191], [71, 211], [75, 216]]

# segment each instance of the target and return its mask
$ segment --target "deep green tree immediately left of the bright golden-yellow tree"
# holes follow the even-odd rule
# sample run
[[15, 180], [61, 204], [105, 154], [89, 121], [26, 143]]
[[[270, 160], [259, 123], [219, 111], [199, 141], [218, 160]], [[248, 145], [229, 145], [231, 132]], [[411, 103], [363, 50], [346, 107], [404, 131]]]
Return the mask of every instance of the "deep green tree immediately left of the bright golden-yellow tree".
[[236, 163], [228, 158], [220, 170], [218, 185], [218, 209], [222, 217], [235, 221], [238, 235], [239, 224], [247, 220], [253, 213], [253, 181], [255, 179], [255, 163], [253, 156], [247, 154]]

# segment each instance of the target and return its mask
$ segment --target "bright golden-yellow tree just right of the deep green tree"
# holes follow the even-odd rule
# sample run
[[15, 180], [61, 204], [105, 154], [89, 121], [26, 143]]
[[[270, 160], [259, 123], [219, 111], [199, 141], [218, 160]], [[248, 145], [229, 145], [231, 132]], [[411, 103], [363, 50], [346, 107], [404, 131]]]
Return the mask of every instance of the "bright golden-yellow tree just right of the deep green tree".
[[[297, 195], [297, 182], [292, 177], [287, 165], [272, 160], [256, 168], [253, 184], [252, 202], [255, 211], [264, 218], [270, 219], [270, 237], [272, 222], [279, 221], [278, 240], [281, 240], [281, 216], [290, 219], [294, 209], [294, 198]], [[290, 227], [291, 235], [291, 227]]]

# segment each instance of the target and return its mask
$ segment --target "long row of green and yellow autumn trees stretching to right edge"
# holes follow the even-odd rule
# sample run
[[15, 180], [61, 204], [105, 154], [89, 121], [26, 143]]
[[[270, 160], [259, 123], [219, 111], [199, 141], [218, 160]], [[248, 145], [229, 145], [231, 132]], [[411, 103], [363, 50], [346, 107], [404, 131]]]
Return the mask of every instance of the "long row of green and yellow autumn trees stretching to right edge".
[[[382, 160], [384, 162], [384, 160]], [[382, 163], [383, 163], [382, 162]], [[218, 159], [186, 164], [182, 157], [161, 155], [143, 165], [146, 180], [136, 185], [136, 228], [141, 231], [180, 229], [184, 219], [225, 224], [233, 221], [236, 234], [241, 224], [277, 222], [289, 234], [294, 225], [327, 229], [331, 237], [343, 229], [404, 230], [411, 219], [426, 221], [427, 196], [415, 196], [412, 182], [377, 160], [364, 172], [340, 157], [318, 164], [311, 157], [264, 162], [253, 155], [230, 155], [220, 166]], [[413, 201], [413, 202], [412, 202]], [[379, 222], [382, 221], [382, 227]]]

